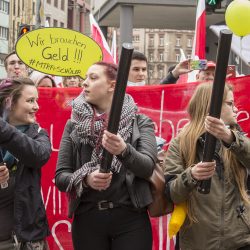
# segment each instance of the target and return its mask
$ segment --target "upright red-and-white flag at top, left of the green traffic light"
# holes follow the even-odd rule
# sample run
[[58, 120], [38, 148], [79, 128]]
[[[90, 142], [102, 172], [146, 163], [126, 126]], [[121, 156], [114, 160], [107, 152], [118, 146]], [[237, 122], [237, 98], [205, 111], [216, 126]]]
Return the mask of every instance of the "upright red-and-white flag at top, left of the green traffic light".
[[206, 58], [206, 3], [205, 0], [198, 0], [195, 20], [195, 35], [192, 50], [192, 59], [198, 56], [199, 59]]

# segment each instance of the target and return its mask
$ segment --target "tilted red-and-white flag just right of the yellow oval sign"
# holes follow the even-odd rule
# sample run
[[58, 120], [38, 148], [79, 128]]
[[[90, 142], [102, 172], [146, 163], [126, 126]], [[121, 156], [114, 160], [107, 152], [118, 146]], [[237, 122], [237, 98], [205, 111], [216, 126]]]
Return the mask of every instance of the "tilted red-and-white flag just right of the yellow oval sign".
[[90, 21], [92, 38], [93, 38], [93, 40], [95, 40], [99, 44], [99, 46], [102, 49], [102, 53], [103, 53], [102, 60], [104, 62], [114, 63], [114, 59], [111, 55], [111, 51], [110, 51], [110, 48], [108, 46], [108, 43], [107, 43], [99, 25], [98, 25], [98, 23], [96, 22], [94, 16], [92, 15], [92, 13], [89, 14], [89, 21]]

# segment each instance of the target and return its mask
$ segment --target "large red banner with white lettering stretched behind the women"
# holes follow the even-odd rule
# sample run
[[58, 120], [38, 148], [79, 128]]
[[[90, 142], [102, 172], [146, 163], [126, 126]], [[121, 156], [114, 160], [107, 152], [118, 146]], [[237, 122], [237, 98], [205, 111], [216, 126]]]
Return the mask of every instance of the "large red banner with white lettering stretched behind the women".
[[[247, 135], [250, 133], [250, 76], [232, 78], [230, 82], [235, 89], [235, 105], [239, 109], [238, 122]], [[198, 83], [171, 84], [142, 87], [128, 87], [139, 111], [154, 121], [155, 133], [166, 139], [167, 147], [181, 127], [188, 121], [186, 107]], [[52, 236], [48, 238], [50, 249], [72, 250], [71, 221], [67, 218], [67, 198], [58, 191], [54, 183], [54, 174], [64, 125], [70, 118], [71, 102], [81, 89], [52, 88], [39, 89], [40, 110], [37, 120], [41, 127], [47, 129], [52, 155], [42, 169], [42, 194], [49, 219]], [[168, 217], [151, 219], [153, 228], [153, 250], [174, 249], [173, 240], [167, 237]], [[83, 246], [84, 249], [84, 246]]]

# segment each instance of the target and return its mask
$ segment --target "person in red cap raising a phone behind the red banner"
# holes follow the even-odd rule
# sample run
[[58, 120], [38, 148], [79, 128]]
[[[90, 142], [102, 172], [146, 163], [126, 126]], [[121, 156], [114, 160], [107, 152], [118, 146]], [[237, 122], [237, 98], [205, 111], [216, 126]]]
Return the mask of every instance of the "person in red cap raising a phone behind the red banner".
[[[179, 79], [179, 76], [182, 74], [188, 74], [192, 70], [189, 69], [190, 59], [184, 60], [176, 65], [169, 67], [168, 75], [166, 78], [161, 80], [160, 84], [171, 84], [176, 83]], [[216, 64], [213, 61], [207, 62], [207, 68], [205, 70], [199, 70], [196, 74], [197, 82], [213, 81], [215, 74]]]

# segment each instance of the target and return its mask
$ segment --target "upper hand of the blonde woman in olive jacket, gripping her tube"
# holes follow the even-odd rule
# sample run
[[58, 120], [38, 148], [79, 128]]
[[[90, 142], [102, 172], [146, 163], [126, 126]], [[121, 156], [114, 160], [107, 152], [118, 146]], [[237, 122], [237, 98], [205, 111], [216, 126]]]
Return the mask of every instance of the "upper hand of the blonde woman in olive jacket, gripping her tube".
[[217, 139], [220, 139], [227, 144], [233, 142], [234, 137], [232, 131], [226, 127], [221, 119], [207, 116], [205, 119], [205, 129]]

